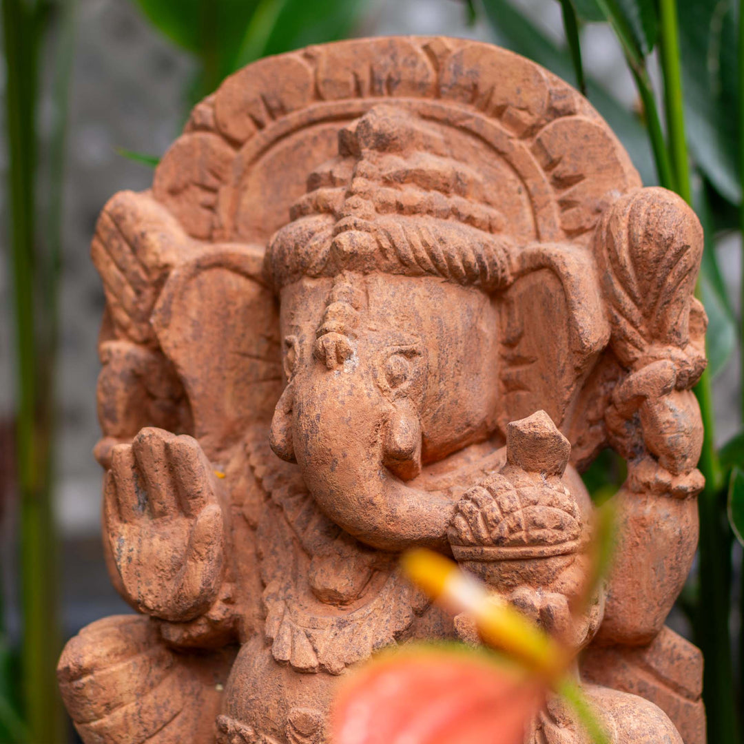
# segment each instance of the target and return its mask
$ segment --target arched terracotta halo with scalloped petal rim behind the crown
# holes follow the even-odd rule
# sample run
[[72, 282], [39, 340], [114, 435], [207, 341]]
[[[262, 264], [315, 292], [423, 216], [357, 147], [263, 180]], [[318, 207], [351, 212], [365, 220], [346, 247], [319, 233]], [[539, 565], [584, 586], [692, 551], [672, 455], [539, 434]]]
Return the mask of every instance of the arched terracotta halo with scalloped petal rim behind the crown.
[[641, 185], [586, 99], [534, 62], [481, 42], [390, 37], [310, 47], [235, 73], [196, 106], [153, 195], [192, 237], [265, 243], [307, 175], [336, 155], [338, 130], [379, 103], [504, 161], [525, 187], [532, 240], [587, 243], [603, 209]]

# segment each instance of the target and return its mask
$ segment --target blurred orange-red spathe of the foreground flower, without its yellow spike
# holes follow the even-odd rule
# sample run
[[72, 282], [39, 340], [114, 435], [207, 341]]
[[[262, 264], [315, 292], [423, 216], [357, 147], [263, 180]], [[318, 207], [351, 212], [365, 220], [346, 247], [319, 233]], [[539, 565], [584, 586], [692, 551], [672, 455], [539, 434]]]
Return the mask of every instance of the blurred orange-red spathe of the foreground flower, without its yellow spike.
[[522, 744], [547, 687], [490, 652], [411, 647], [341, 687], [333, 744]]

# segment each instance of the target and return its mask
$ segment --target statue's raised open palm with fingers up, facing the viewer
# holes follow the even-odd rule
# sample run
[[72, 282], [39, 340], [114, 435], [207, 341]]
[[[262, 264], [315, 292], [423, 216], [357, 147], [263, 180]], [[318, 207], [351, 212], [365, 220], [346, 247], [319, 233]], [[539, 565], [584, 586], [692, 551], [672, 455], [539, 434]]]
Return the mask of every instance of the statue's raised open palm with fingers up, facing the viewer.
[[106, 474], [105, 539], [126, 598], [164, 620], [190, 620], [217, 596], [225, 527], [199, 443], [142, 429], [115, 446]]

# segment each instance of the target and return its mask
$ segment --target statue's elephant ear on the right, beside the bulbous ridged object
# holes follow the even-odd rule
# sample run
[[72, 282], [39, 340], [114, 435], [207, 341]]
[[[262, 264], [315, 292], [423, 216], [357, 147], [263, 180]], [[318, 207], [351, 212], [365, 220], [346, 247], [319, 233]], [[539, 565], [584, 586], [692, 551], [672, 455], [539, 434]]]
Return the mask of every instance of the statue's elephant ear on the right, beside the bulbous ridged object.
[[609, 340], [594, 261], [584, 246], [519, 248], [501, 295], [502, 430], [542, 408], [567, 431], [580, 388]]

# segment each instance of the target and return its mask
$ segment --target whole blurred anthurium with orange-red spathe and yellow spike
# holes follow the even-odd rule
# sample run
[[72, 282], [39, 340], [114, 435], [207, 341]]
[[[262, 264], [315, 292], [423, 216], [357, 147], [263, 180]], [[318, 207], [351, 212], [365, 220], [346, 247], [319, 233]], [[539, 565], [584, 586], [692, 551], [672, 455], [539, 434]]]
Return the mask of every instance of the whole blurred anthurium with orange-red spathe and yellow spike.
[[[606, 744], [567, 673], [573, 650], [440, 554], [408, 551], [403, 568], [433, 600], [468, 612], [500, 654], [463, 644], [383, 652], [341, 685], [331, 711], [333, 744], [522, 744], [550, 690], [571, 705], [590, 740]], [[594, 573], [587, 595], [601, 575]]]

